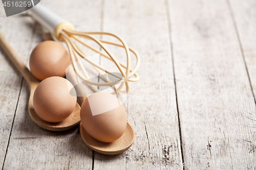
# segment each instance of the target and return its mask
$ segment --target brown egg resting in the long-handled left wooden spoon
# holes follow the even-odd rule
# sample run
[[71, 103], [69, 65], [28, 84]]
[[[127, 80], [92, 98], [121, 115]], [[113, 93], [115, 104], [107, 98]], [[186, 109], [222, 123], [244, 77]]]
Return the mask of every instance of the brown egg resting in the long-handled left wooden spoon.
[[39, 83], [33, 96], [36, 114], [47, 122], [60, 122], [71, 115], [76, 96], [69, 93], [73, 85], [62, 77], [50, 77]]

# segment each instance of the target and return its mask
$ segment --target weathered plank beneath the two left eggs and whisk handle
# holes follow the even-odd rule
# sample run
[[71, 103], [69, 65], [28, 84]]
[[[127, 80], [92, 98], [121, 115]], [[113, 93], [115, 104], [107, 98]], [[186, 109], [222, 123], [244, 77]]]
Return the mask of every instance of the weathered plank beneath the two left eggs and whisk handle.
[[[100, 30], [101, 1], [76, 1], [76, 3], [66, 1], [63, 3], [60, 0], [49, 0], [42, 3], [50, 10], [74, 23], [77, 30]], [[65, 8], [68, 10], [63, 10]], [[24, 20], [23, 17], [19, 19]], [[30, 20], [29, 24], [31, 23], [34, 22]], [[9, 32], [18, 32], [19, 29], [8, 28]], [[28, 30], [32, 32], [31, 28]], [[31, 47], [26, 48], [29, 53], [34, 46], [43, 40], [42, 34], [40, 26], [37, 25]], [[20, 39], [18, 43], [21, 44], [23, 35], [16, 34], [16, 37]], [[51, 132], [39, 128], [29, 117], [28, 100], [29, 89], [27, 83], [24, 82], [4, 169], [91, 169], [92, 150], [82, 141], [78, 127], [64, 132]]]

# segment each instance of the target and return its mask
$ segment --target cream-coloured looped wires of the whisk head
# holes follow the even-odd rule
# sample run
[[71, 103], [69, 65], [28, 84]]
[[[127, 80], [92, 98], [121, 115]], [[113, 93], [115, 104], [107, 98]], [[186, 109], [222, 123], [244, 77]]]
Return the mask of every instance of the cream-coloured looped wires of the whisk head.
[[[92, 36], [90, 34], [92, 34], [92, 35], [100, 34], [100, 35], [113, 36], [113, 37], [117, 38], [121, 42], [121, 44], [115, 43], [115, 42], [111, 42], [111, 41], [106, 41], [106, 40], [103, 40], [103, 39], [97, 39], [97, 38], [95, 38], [94, 36]], [[73, 66], [76, 74], [78, 75], [78, 77], [81, 80], [83, 80], [84, 82], [88, 83], [95, 92], [99, 91], [99, 89], [96, 88], [95, 86], [114, 86], [114, 88], [115, 88], [115, 85], [120, 84], [117, 89], [115, 88], [114, 92], [115, 93], [118, 93], [118, 92], [127, 93], [129, 91], [129, 83], [128, 82], [129, 81], [135, 82], [135, 81], [139, 80], [139, 75], [136, 73], [136, 71], [137, 71], [137, 69], [139, 67], [139, 64], [140, 64], [140, 57], [139, 57], [138, 53], [135, 50], [133, 50], [133, 48], [127, 46], [126, 42], [121, 37], [119, 37], [118, 35], [112, 34], [112, 33], [106, 33], [106, 32], [78, 32], [78, 31], [74, 31], [74, 30], [72, 30], [70, 28], [63, 28], [59, 32], [58, 36], [61, 37], [63, 39], [63, 41], [65, 41], [67, 43], [67, 46], [68, 46], [68, 49], [69, 49], [69, 52], [70, 52], [72, 66]], [[79, 38], [77, 38], [77, 36], [80, 36], [82, 38], [86, 38], [86, 39], [90, 39], [90, 40], [95, 41], [105, 51], [106, 54], [103, 53], [102, 51], [97, 50], [92, 45], [90, 45], [90, 44], [80, 40]], [[102, 67], [101, 65], [93, 62], [92, 60], [90, 60], [80, 50], [80, 48], [76, 45], [76, 43], [74, 41], [72, 41], [72, 38], [74, 38], [78, 42], [82, 43], [83, 45], [86, 45], [87, 47], [91, 48], [91, 50], [99, 53], [103, 57], [113, 61], [115, 63], [115, 65], [117, 66], [117, 68], [119, 69], [119, 71], [120, 71], [122, 76], [120, 76], [118, 74], [115, 74], [114, 72], [112, 72], [112, 71]], [[106, 48], [106, 46], [103, 43], [107, 43], [107, 44], [112, 44], [112, 45], [115, 45], [115, 46], [123, 47], [125, 52], [126, 52], [127, 64], [125, 65], [125, 64], [119, 62], [114, 57], [114, 55], [109, 51], [109, 49]], [[131, 69], [131, 55], [130, 55], [130, 51], [136, 56], [136, 59], [137, 59], [137, 63], [135, 65], [134, 69]], [[81, 61], [79, 60], [79, 56], [81, 58], [83, 58], [84, 60], [86, 60], [87, 62], [89, 62], [90, 64], [92, 64], [93, 67], [99, 72], [99, 74], [102, 75], [102, 71], [103, 71], [103, 72], [106, 72], [106, 74], [109, 74], [109, 75], [111, 75], [113, 77], [118, 78], [119, 80], [113, 81], [113, 82], [109, 82], [108, 76], [106, 76], [106, 77], [102, 76], [102, 78], [107, 83], [93, 82], [93, 81], [89, 80], [90, 77], [88, 75], [88, 72], [86, 71], [86, 68], [84, 68], [84, 66], [81, 63]], [[76, 62], [78, 63], [80, 69], [82, 70], [83, 75], [80, 73], [80, 71], [79, 71], [79, 69], [77, 67]], [[125, 72], [123, 71], [122, 67], [126, 69]], [[135, 78], [132, 78], [133, 76], [135, 76]], [[126, 89], [122, 90], [122, 87], [124, 86], [124, 84], [125, 84]]]

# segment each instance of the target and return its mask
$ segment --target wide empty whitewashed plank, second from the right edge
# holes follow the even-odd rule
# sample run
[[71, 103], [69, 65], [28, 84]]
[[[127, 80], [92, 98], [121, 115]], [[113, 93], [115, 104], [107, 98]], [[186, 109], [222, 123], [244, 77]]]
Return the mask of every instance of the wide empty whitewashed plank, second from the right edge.
[[227, 2], [168, 5], [185, 169], [254, 168], [256, 108]]

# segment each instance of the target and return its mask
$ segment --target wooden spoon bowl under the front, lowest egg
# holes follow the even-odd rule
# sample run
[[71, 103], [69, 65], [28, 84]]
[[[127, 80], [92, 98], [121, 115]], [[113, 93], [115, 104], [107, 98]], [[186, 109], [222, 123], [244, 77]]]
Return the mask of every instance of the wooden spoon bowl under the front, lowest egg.
[[88, 145], [89, 148], [105, 155], [116, 155], [126, 151], [131, 147], [136, 136], [134, 129], [129, 123], [127, 123], [123, 135], [119, 139], [109, 143], [94, 139], [83, 128], [82, 123], [80, 123], [80, 134], [83, 141]]

